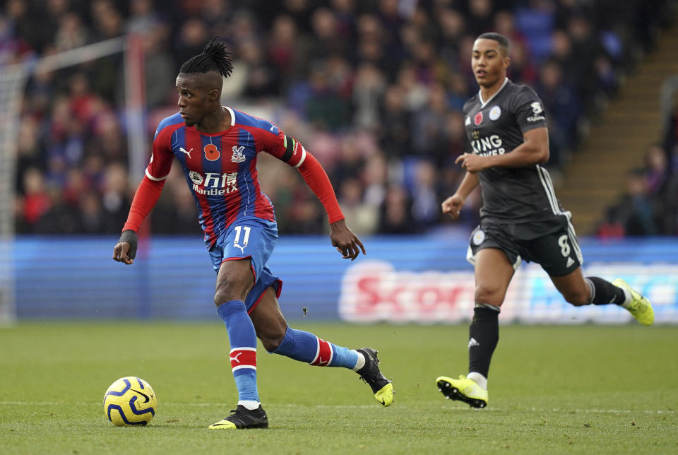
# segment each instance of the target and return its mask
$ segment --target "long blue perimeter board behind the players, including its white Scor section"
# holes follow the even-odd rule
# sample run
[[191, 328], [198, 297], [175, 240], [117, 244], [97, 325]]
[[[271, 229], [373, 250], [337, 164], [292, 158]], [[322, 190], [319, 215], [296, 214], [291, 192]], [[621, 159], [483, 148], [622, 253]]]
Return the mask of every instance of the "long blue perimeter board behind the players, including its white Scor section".
[[[328, 236], [283, 236], [268, 265], [283, 279], [290, 320], [448, 323], [472, 314], [467, 241], [443, 235], [366, 237], [367, 256], [341, 259]], [[5, 270], [25, 319], [214, 319], [215, 273], [198, 237], [153, 237], [135, 263], [112, 260], [117, 237], [18, 237]], [[585, 275], [620, 276], [653, 300], [658, 323], [678, 324], [678, 239], [581, 239]], [[7, 264], [5, 264], [7, 265]], [[7, 277], [6, 277], [7, 278]], [[11, 276], [10, 276], [11, 278]], [[306, 309], [306, 316], [304, 316]], [[615, 305], [567, 305], [536, 264], [523, 264], [503, 322], [620, 324]]]

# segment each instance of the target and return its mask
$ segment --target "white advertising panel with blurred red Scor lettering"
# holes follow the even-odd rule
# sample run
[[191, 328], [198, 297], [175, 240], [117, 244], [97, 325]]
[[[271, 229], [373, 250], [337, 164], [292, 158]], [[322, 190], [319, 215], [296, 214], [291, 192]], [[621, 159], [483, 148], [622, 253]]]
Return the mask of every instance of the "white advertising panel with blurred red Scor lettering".
[[[678, 322], [678, 265], [592, 264], [587, 276], [620, 276], [653, 302], [658, 322]], [[339, 297], [346, 321], [458, 323], [473, 309], [472, 271], [397, 270], [386, 261], [364, 261], [347, 269]], [[620, 324], [633, 318], [615, 305], [567, 304], [536, 264], [523, 264], [509, 286], [501, 321], [529, 324]]]

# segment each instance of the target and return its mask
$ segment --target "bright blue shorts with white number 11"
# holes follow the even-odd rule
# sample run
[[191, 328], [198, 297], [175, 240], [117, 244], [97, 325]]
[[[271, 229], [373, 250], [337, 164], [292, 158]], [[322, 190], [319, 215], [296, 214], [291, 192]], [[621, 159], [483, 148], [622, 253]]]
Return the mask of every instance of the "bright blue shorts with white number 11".
[[261, 218], [240, 218], [219, 236], [209, 249], [214, 271], [225, 261], [249, 259], [254, 273], [254, 286], [245, 297], [247, 312], [251, 313], [269, 286], [280, 297], [283, 281], [273, 275], [266, 262], [278, 241], [278, 226]]

